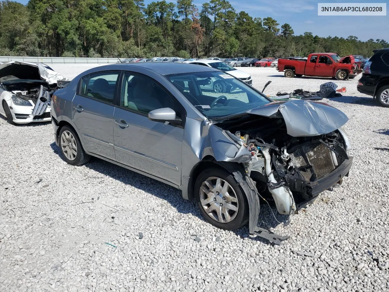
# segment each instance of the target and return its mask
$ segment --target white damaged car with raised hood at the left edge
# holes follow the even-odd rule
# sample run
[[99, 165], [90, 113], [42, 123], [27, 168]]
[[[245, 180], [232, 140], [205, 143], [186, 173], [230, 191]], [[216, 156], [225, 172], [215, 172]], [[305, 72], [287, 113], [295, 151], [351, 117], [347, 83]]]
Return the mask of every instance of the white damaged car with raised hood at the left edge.
[[50, 97], [64, 80], [42, 63], [0, 64], [0, 114], [13, 125], [50, 121]]

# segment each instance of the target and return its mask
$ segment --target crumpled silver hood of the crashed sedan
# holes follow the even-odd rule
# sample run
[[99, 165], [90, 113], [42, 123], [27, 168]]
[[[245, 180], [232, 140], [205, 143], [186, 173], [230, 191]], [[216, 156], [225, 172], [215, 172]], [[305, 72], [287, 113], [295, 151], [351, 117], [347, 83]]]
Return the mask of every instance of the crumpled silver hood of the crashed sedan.
[[293, 137], [328, 134], [342, 127], [347, 116], [335, 107], [322, 102], [291, 100], [272, 102], [247, 111], [249, 114], [283, 118], [287, 133]]

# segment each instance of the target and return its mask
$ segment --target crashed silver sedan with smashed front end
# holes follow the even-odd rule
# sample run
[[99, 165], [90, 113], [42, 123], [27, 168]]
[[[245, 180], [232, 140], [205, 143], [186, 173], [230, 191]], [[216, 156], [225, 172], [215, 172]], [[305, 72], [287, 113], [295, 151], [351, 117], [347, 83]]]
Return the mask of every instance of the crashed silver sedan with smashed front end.
[[[233, 90], [207, 89], [213, 79]], [[211, 67], [96, 67], [55, 92], [51, 114], [66, 162], [92, 155], [179, 188], [223, 229], [249, 222], [255, 233], [261, 197], [291, 214], [352, 165], [344, 113], [321, 102], [272, 102]]]

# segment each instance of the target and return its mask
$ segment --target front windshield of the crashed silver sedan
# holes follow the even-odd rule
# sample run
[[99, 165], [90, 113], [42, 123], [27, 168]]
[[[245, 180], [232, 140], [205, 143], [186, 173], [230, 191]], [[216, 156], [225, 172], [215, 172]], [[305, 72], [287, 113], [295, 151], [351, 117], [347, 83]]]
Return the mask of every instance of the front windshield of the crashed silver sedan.
[[194, 72], [167, 78], [207, 118], [242, 113], [270, 103], [265, 95], [223, 72]]

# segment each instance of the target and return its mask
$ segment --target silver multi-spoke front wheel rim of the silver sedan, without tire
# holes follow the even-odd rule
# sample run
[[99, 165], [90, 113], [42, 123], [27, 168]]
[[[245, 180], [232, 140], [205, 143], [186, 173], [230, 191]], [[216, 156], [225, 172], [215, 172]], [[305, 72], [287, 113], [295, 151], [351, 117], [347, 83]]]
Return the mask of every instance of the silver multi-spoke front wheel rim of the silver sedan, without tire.
[[239, 210], [238, 197], [224, 179], [211, 176], [200, 187], [200, 202], [213, 220], [228, 223], [235, 219]]

